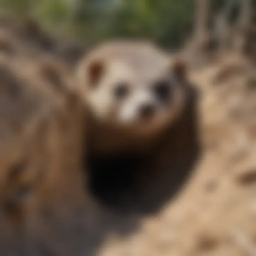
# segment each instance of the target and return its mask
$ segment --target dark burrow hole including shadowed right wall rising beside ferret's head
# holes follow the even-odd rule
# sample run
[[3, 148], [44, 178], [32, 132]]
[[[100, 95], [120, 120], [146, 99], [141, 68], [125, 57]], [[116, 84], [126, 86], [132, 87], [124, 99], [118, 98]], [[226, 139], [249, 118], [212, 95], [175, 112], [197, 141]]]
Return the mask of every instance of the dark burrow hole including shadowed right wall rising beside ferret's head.
[[[152, 156], [118, 154], [113, 157], [86, 155], [85, 176], [89, 193], [101, 205], [124, 213], [156, 213], [185, 185], [200, 155], [197, 129], [198, 94], [191, 98], [180, 121], [168, 130]], [[168, 148], [167, 167], [154, 163], [155, 153]], [[169, 143], [170, 142], [170, 143]], [[90, 148], [85, 150], [90, 152]], [[166, 159], [165, 159], [166, 161]]]

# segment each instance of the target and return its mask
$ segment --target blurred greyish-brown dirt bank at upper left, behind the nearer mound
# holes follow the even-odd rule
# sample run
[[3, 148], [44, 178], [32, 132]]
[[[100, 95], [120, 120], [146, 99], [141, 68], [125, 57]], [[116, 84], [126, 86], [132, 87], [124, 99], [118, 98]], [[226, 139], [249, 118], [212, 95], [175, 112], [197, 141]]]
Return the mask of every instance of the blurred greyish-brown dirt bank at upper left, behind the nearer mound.
[[9, 53], [51, 55], [69, 66], [74, 66], [85, 53], [80, 43], [53, 36], [32, 18], [14, 21], [5, 16], [0, 16], [0, 49]]

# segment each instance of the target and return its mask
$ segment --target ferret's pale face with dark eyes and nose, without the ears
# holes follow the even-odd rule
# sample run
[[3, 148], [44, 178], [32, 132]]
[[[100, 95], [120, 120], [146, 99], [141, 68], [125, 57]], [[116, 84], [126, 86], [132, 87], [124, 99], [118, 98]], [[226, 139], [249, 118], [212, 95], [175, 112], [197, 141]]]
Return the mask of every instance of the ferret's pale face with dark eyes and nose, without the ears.
[[171, 122], [182, 105], [182, 92], [171, 71], [166, 74], [167, 63], [141, 61], [138, 70], [121, 60], [108, 63], [87, 98], [98, 120], [131, 132], [152, 132]]

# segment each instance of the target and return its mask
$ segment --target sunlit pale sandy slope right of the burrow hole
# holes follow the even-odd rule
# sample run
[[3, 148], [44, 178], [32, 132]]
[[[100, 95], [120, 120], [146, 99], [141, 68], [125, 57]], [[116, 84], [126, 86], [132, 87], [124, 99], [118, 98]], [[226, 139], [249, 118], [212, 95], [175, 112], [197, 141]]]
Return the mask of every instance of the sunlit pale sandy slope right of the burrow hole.
[[192, 71], [202, 154], [175, 199], [99, 255], [255, 255], [255, 67], [241, 56]]

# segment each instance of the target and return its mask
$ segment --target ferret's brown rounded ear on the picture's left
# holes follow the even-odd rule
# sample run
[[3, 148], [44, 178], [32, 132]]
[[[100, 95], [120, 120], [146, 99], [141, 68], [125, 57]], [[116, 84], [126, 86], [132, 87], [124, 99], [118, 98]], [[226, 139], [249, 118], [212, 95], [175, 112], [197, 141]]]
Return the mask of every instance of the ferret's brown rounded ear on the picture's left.
[[90, 87], [97, 86], [103, 72], [105, 65], [102, 60], [94, 60], [88, 65], [87, 75]]

